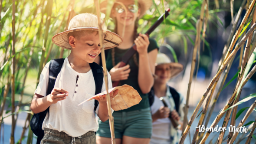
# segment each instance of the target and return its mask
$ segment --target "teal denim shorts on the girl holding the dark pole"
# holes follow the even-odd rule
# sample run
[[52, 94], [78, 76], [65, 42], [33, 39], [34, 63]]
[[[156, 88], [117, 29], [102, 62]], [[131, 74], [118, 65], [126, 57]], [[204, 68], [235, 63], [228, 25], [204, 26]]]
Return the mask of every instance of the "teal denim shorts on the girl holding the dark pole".
[[[114, 111], [115, 138], [123, 135], [137, 138], [150, 138], [152, 134], [152, 118], [150, 108], [136, 111]], [[97, 136], [111, 137], [109, 121], [98, 121]]]

